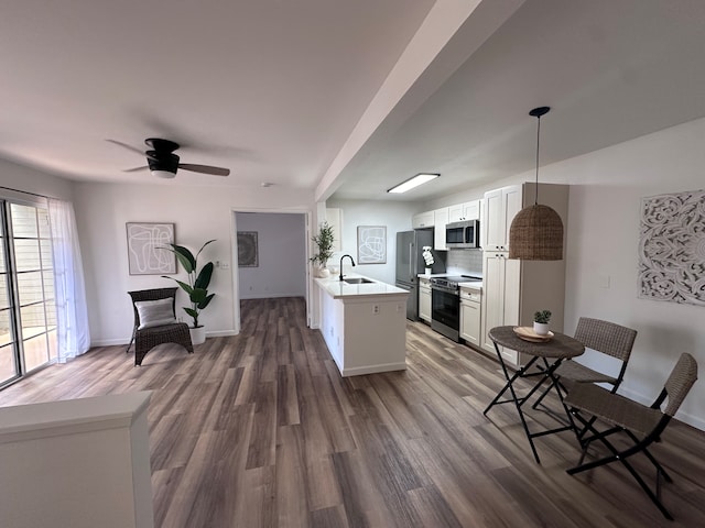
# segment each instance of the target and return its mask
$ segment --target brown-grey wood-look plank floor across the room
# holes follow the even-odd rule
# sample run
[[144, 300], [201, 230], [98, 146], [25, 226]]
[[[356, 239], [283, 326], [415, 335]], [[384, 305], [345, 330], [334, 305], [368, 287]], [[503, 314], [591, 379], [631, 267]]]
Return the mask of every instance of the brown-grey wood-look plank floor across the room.
[[[163, 345], [134, 367], [123, 346], [97, 348], [0, 405], [154, 391], [163, 528], [705, 526], [702, 431], [672, 424], [653, 449], [674, 480], [670, 522], [621, 466], [567, 475], [570, 432], [538, 438], [536, 464], [513, 407], [482, 415], [498, 363], [423, 323], [408, 323], [405, 372], [341, 378], [303, 299], [247, 300], [242, 315], [240, 336], [195, 354]], [[530, 427], [553, 424], [532, 411]]]

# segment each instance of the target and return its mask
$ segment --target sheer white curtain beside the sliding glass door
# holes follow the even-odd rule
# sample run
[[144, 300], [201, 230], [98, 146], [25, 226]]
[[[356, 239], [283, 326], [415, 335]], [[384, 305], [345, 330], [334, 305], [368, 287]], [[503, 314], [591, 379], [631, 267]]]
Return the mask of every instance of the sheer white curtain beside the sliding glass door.
[[58, 362], [64, 363], [90, 348], [86, 286], [74, 207], [67, 201], [50, 199], [48, 215], [54, 253]]

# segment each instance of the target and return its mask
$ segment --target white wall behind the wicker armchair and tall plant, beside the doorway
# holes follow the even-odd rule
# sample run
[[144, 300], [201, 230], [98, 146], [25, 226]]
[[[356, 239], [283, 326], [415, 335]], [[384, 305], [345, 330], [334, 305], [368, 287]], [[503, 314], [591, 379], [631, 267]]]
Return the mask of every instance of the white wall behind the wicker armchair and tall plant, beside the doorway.
[[[75, 205], [94, 345], [127, 344], [129, 341], [133, 314], [127, 292], [173, 284], [159, 275], [129, 275], [126, 222], [174, 222], [176, 243], [192, 250], [216, 239], [202, 254], [203, 262], [221, 261], [230, 266], [229, 270], [216, 268], [214, 272], [209, 289], [216, 297], [202, 312], [200, 320], [208, 336], [227, 336], [239, 329], [236, 323], [239, 305], [234, 297], [238, 272], [232, 244], [234, 211], [307, 212], [314, 207], [313, 193], [295, 189], [177, 187], [169, 183], [80, 183], [76, 184]], [[282, 254], [281, 257], [283, 260], [288, 255]], [[185, 279], [181, 267], [175, 277]], [[177, 295], [176, 306], [185, 306], [185, 294], [180, 290]]]

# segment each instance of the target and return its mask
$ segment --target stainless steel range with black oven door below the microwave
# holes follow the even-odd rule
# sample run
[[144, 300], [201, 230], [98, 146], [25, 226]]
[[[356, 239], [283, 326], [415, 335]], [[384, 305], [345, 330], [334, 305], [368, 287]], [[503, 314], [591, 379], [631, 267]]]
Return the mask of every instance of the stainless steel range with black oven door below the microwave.
[[481, 280], [476, 275], [431, 278], [431, 328], [455, 342], [460, 341], [460, 283]]

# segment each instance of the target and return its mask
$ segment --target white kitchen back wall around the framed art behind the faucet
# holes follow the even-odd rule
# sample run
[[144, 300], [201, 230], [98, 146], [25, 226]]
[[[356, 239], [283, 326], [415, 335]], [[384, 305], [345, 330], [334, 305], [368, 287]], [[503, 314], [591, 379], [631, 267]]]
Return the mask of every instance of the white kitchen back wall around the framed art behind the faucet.
[[341, 209], [341, 251], [335, 253], [328, 262], [328, 267], [337, 268], [340, 256], [357, 256], [357, 227], [358, 226], [386, 226], [387, 227], [387, 263], [364, 264], [355, 268], [350, 267], [349, 260], [344, 262], [345, 273], [357, 273], [383, 283], [394, 284], [397, 258], [397, 232], [411, 229], [411, 217], [417, 210], [415, 204], [393, 201], [364, 201], [364, 200], [328, 200], [327, 207]]

